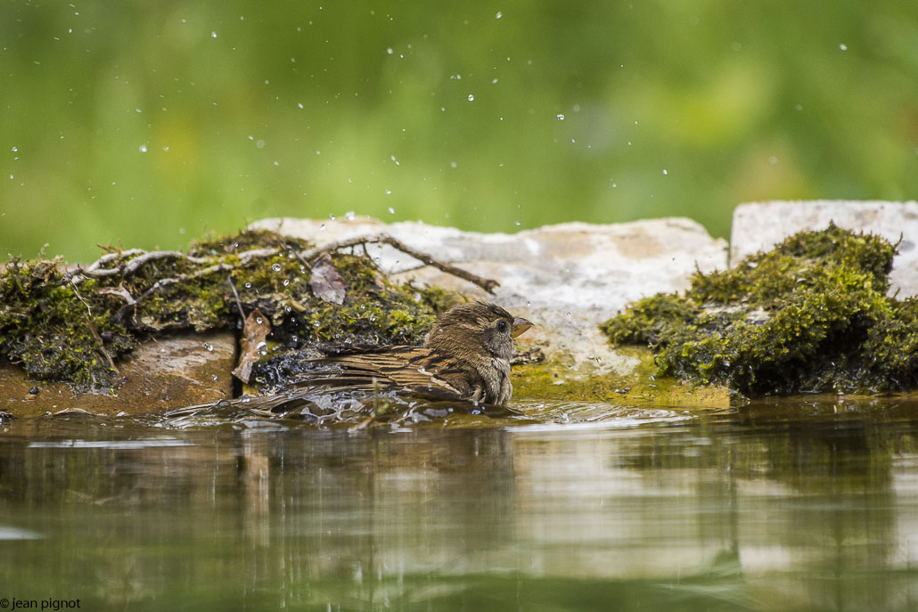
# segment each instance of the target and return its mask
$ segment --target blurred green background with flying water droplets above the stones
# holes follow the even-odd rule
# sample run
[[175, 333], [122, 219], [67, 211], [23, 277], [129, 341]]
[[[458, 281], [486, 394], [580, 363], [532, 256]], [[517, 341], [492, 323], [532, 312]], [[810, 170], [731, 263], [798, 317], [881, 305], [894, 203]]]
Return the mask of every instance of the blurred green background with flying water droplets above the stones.
[[0, 80], [0, 257], [918, 194], [914, 0], [7, 0]]

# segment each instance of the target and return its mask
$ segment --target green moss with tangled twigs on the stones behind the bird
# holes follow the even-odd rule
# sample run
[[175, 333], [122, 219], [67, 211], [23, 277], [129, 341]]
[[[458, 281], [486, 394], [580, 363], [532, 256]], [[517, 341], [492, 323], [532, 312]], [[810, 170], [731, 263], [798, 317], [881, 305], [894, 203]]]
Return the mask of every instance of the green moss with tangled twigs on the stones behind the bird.
[[274, 346], [284, 348], [420, 343], [453, 303], [442, 290], [390, 283], [357, 249], [330, 254], [347, 290], [341, 306], [324, 302], [310, 289], [309, 261], [300, 255], [311, 246], [243, 231], [150, 261], [140, 261], [144, 251], [109, 248], [95, 264], [95, 274], [107, 275], [68, 271], [60, 258], [14, 259], [0, 269], [0, 358], [30, 378], [111, 390], [120, 384], [113, 361], [142, 339], [240, 327], [233, 288], [246, 313], [257, 307], [270, 317]]

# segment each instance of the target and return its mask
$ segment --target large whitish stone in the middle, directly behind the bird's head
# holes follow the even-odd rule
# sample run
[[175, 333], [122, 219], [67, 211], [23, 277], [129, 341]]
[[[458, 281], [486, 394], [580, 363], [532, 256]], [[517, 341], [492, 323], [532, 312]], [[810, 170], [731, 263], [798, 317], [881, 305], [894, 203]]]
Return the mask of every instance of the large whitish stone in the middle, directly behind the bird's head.
[[615, 225], [563, 223], [517, 234], [482, 234], [420, 222], [386, 224], [375, 219], [269, 218], [252, 229], [271, 229], [317, 245], [387, 233], [435, 259], [497, 280], [495, 295], [442, 273], [388, 246], [368, 245], [380, 267], [397, 279], [438, 284], [504, 306], [537, 325], [521, 337], [559, 361], [577, 366], [572, 375], [615, 369], [635, 362], [610, 347], [599, 324], [630, 302], [686, 289], [696, 269], [726, 267], [726, 242], [712, 239], [695, 221], [665, 218]]

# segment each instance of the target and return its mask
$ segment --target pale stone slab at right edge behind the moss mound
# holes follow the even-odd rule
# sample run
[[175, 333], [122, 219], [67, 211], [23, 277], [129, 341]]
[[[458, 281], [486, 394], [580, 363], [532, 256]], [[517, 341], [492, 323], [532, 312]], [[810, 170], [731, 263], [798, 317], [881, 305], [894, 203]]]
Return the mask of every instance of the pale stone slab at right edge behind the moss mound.
[[899, 254], [892, 261], [890, 295], [918, 295], [918, 202], [847, 202], [815, 200], [755, 202], [733, 212], [730, 261], [739, 261], [804, 230], [825, 229], [833, 221], [839, 228], [878, 234]]

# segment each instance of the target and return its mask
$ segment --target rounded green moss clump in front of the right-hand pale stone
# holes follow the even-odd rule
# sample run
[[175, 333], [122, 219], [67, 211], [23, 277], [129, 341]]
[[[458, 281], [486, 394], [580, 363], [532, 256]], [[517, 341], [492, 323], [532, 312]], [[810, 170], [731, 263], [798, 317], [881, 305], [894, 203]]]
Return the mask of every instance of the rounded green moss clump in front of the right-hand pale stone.
[[602, 329], [653, 348], [660, 374], [747, 395], [910, 388], [918, 309], [886, 295], [893, 254], [882, 238], [834, 225], [802, 232]]

